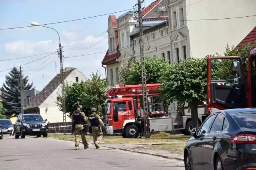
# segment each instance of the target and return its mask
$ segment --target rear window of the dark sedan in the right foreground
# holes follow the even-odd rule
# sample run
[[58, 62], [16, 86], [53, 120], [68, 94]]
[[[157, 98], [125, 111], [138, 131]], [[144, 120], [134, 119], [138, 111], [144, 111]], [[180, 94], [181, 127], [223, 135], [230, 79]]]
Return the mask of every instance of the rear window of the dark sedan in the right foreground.
[[239, 113], [233, 117], [241, 128], [256, 129], [256, 113]]

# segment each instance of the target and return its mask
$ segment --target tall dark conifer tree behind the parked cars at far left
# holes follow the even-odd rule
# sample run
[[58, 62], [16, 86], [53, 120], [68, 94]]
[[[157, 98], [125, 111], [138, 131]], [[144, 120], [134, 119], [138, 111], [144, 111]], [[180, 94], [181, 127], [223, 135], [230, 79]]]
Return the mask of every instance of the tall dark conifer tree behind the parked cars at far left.
[[6, 116], [20, 113], [22, 101], [20, 98], [20, 76], [22, 76], [23, 90], [31, 90], [33, 87], [33, 83], [28, 83], [28, 76], [20, 75], [18, 68], [12, 68], [9, 75], [6, 75], [5, 83], [1, 88], [2, 104], [7, 109]]

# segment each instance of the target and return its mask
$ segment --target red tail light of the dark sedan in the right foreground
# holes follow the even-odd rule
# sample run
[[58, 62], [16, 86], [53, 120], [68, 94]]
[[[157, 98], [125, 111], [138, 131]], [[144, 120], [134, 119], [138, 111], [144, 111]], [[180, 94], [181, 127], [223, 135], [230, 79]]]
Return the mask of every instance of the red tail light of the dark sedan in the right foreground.
[[241, 134], [229, 139], [230, 143], [256, 143], [256, 135]]

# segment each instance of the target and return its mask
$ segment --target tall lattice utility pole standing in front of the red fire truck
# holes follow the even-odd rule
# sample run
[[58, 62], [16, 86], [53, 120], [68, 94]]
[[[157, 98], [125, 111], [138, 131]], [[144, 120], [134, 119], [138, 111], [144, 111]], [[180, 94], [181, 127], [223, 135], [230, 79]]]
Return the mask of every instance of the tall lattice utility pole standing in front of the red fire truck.
[[148, 120], [148, 90], [146, 83], [146, 69], [145, 69], [145, 57], [144, 57], [144, 43], [143, 43], [143, 21], [142, 21], [142, 9], [141, 0], [138, 0], [138, 18], [139, 18], [139, 30], [140, 30], [140, 63], [141, 63], [141, 81], [142, 81], [142, 97], [144, 106], [144, 136], [146, 138], [150, 137], [150, 126]]

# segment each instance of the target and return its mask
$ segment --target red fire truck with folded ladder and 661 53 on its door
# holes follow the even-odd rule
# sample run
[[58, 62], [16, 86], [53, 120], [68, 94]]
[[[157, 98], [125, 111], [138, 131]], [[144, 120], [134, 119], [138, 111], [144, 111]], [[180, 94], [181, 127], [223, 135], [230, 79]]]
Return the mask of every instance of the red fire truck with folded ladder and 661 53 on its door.
[[[158, 89], [163, 84], [147, 84], [150, 131], [181, 130], [185, 135], [190, 135], [192, 130], [191, 114], [188, 106], [181, 112], [176, 109], [168, 115], [164, 111], [163, 101]], [[102, 113], [106, 115], [106, 133], [109, 135], [122, 134], [124, 138], [137, 138], [144, 133], [143, 109], [140, 106], [142, 85], [122, 85], [111, 87], [108, 92]], [[208, 116], [207, 106], [198, 106], [198, 119], [202, 123]]]

